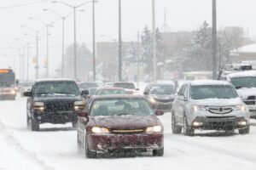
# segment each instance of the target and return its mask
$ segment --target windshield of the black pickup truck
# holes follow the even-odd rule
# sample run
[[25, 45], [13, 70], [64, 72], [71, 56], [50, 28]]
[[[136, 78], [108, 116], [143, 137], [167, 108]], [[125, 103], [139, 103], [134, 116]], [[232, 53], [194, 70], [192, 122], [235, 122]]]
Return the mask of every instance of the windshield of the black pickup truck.
[[72, 94], [79, 95], [79, 88], [75, 82], [59, 81], [59, 82], [38, 82], [35, 85], [35, 95], [48, 94]]

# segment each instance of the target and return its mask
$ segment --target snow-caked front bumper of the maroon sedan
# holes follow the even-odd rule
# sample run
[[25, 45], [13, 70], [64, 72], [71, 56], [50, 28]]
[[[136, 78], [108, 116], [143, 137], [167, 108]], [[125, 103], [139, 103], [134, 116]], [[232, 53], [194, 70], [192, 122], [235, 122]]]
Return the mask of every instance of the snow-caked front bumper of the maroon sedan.
[[108, 134], [87, 135], [90, 150], [106, 153], [111, 150], [160, 150], [163, 134]]

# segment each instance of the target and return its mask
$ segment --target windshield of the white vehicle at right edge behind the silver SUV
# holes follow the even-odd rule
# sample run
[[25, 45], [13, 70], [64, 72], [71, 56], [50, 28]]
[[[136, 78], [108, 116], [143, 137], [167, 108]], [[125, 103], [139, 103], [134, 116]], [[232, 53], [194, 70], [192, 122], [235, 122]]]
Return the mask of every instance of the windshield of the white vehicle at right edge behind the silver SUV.
[[235, 88], [256, 88], [256, 77], [234, 77], [231, 83]]

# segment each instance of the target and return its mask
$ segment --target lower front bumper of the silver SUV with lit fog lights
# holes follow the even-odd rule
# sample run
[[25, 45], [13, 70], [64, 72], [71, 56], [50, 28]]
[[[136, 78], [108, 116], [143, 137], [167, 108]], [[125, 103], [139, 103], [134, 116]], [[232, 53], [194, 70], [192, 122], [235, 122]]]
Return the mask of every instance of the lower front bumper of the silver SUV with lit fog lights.
[[196, 117], [191, 127], [204, 130], [232, 130], [249, 126], [249, 121], [244, 117]]

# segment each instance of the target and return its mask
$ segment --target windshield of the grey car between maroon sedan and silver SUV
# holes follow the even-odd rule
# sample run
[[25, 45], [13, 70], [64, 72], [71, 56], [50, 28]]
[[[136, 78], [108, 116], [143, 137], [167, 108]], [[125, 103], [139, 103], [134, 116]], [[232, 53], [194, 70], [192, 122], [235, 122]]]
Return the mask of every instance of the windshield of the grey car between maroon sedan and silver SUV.
[[175, 89], [172, 85], [159, 85], [159, 86], [153, 86], [150, 89], [150, 94], [156, 94], [156, 95], [171, 95], [175, 94]]

